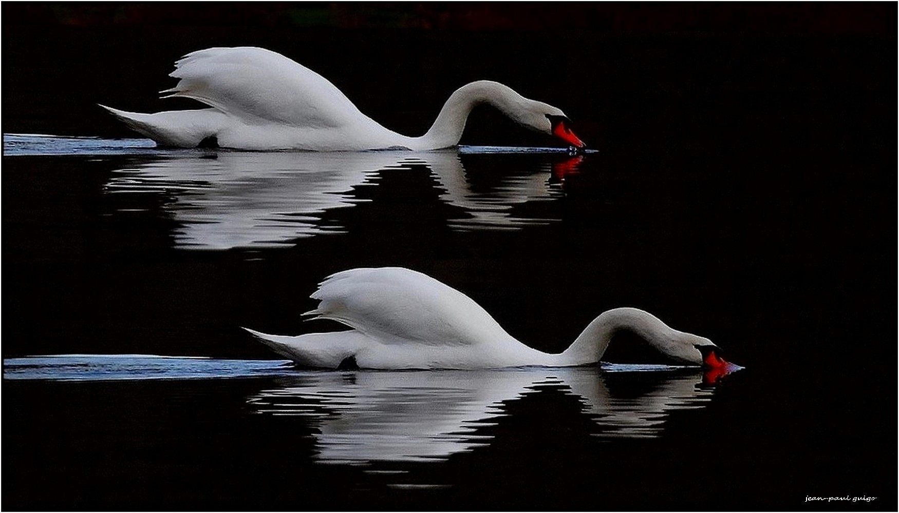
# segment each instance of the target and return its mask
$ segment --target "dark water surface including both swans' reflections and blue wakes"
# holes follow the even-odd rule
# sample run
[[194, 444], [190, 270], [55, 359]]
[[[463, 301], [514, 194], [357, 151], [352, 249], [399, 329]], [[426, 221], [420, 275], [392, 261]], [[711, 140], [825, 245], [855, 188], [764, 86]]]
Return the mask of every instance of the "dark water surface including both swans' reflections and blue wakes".
[[[6, 29], [4, 509], [896, 508], [895, 40]], [[181, 108], [174, 58], [234, 44], [408, 133], [493, 78], [599, 151], [480, 110], [460, 150], [159, 150], [94, 105]], [[240, 329], [380, 265], [538, 349], [632, 305], [746, 368], [323, 373]]]

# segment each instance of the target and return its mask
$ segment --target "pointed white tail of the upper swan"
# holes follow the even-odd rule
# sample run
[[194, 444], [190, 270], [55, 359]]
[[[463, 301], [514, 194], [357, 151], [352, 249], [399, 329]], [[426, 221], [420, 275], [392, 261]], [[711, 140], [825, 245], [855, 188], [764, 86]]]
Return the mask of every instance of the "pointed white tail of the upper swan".
[[225, 114], [216, 109], [141, 114], [100, 106], [128, 128], [153, 139], [160, 146], [200, 146], [204, 139], [217, 136], [226, 120]]

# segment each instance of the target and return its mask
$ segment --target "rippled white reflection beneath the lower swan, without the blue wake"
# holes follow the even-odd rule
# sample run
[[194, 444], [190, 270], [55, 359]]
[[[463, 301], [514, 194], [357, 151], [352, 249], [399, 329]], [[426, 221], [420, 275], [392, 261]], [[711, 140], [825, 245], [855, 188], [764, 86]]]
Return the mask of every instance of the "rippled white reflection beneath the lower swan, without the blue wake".
[[[489, 444], [478, 428], [505, 415], [504, 403], [545, 388], [574, 395], [602, 438], [659, 436], [669, 412], [699, 408], [713, 394], [698, 385], [697, 368], [603, 366], [309, 372], [280, 378], [283, 385], [248, 403], [259, 413], [313, 420], [320, 462], [365, 464], [441, 459]], [[616, 395], [607, 385], [611, 376], [648, 377], [652, 385], [636, 396]]]

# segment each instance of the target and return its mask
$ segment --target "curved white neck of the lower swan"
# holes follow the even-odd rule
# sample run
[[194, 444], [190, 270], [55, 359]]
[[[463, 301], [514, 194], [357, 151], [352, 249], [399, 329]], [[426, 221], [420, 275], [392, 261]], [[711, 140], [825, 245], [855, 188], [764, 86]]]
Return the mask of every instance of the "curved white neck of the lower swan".
[[[693, 335], [674, 330], [653, 314], [637, 308], [615, 308], [603, 312], [593, 319], [592, 323], [587, 324], [574, 343], [558, 355], [558, 358], [564, 361], [565, 365], [596, 363], [609, 347], [612, 336], [619, 330], [634, 332], [655, 349], [672, 358], [688, 359], [691, 363], [701, 362], [701, 358], [694, 361], [696, 358], [692, 355], [692, 351], [695, 351], [695, 356], [699, 357], [699, 350], [689, 345], [684, 347], [681, 342], [684, 337]], [[689, 351], [686, 356], [685, 350]]]

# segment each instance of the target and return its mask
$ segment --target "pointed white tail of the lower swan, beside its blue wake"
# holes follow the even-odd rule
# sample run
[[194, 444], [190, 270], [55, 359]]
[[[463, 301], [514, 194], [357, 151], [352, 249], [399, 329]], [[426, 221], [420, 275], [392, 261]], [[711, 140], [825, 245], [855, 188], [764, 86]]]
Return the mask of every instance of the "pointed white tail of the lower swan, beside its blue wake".
[[249, 328], [244, 330], [274, 353], [293, 360], [301, 367], [340, 368], [349, 358], [355, 358], [365, 343], [364, 337], [353, 331], [287, 336], [270, 335]]

